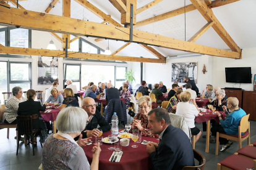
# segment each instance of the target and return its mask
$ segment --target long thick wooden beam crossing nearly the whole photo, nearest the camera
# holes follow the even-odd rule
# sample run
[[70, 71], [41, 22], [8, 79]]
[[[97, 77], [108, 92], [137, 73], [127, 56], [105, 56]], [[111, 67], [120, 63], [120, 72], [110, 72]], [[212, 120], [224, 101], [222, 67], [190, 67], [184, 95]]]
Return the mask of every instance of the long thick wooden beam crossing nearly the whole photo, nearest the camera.
[[[77, 36], [93, 36], [107, 39], [129, 41], [130, 29], [118, 26], [105, 25], [101, 23], [89, 22], [75, 18], [61, 17], [58, 15], [45, 14], [30, 10], [23, 10], [0, 6], [0, 25], [20, 26], [31, 30], [49, 31], [54, 33], [74, 34]], [[158, 34], [147, 33], [145, 31], [134, 30], [133, 42], [160, 46], [179, 51], [194, 52], [198, 54], [215, 55], [239, 59], [240, 53], [202, 46], [192, 42], [169, 38]]]

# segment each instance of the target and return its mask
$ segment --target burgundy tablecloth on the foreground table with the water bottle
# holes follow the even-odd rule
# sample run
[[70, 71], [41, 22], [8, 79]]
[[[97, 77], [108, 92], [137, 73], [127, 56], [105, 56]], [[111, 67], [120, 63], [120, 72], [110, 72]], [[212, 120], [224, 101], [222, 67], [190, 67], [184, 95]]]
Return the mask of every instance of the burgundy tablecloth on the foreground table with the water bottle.
[[[108, 137], [111, 134], [111, 131], [103, 133], [103, 137]], [[120, 138], [119, 138], [120, 139]], [[95, 139], [93, 139], [95, 140]], [[142, 140], [148, 140], [151, 142], [158, 143], [159, 141], [154, 137], [145, 137], [142, 136]], [[108, 150], [108, 147], [111, 144], [101, 145], [101, 153], [100, 153], [100, 164], [99, 169], [101, 170], [113, 170], [113, 169], [122, 169], [122, 170], [148, 170], [151, 168], [149, 154], [147, 152], [146, 145], [138, 144], [138, 148], [132, 148], [131, 146], [134, 145], [134, 141], [130, 139], [128, 147], [122, 147], [122, 158], [119, 163], [109, 162], [109, 158], [113, 153], [113, 150]], [[114, 144], [113, 144], [114, 145]], [[87, 145], [83, 147], [85, 155], [89, 163], [92, 163], [92, 147], [93, 145]]]

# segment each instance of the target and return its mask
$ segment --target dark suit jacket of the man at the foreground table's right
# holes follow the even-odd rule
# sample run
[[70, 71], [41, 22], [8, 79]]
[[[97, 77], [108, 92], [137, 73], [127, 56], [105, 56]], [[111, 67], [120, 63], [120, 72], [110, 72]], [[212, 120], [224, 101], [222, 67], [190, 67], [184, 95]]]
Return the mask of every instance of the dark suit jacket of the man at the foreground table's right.
[[150, 153], [154, 169], [178, 170], [194, 166], [194, 153], [189, 138], [181, 129], [171, 124], [165, 129], [158, 151]]

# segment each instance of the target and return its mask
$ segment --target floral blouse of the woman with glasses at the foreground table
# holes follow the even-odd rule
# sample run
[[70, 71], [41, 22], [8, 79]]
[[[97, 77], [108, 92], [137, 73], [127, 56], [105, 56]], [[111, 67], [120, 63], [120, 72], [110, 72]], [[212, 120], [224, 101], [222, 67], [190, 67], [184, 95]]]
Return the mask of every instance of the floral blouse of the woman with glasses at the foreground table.
[[[147, 127], [148, 127], [148, 116], [142, 115], [142, 113], [139, 112], [136, 116], [134, 116], [134, 119], [138, 119], [138, 120], [141, 121], [140, 124], [143, 127], [142, 136], [149, 136], [149, 137], [155, 137], [155, 138], [160, 137], [158, 134], [151, 134], [151, 130], [147, 129]], [[132, 125], [132, 122], [130, 124]], [[137, 129], [137, 127], [132, 126], [132, 129], [130, 129], [130, 131], [132, 131], [133, 129]]]

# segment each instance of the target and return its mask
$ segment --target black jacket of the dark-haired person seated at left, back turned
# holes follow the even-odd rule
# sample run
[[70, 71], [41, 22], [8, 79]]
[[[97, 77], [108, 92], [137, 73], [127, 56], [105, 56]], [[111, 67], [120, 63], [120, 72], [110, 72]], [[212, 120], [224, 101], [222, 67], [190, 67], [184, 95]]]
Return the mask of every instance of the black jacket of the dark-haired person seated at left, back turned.
[[19, 116], [38, 115], [38, 118], [33, 119], [33, 129], [45, 129], [45, 123], [41, 118], [40, 111], [45, 111], [46, 105], [41, 106], [40, 102], [35, 102], [33, 99], [28, 99], [25, 102], [19, 103], [18, 113]]

